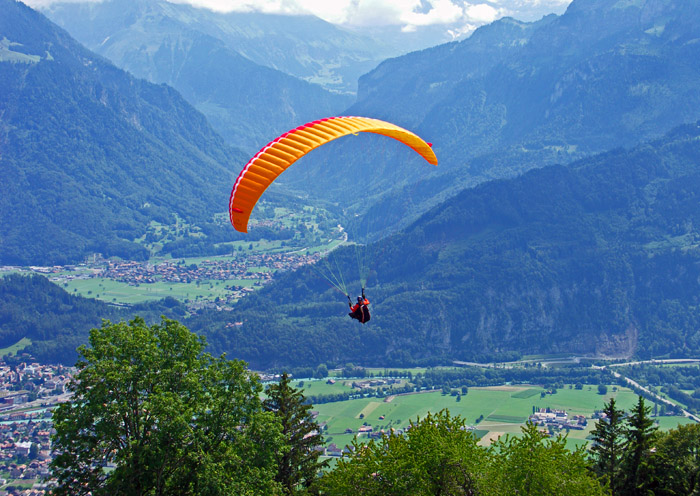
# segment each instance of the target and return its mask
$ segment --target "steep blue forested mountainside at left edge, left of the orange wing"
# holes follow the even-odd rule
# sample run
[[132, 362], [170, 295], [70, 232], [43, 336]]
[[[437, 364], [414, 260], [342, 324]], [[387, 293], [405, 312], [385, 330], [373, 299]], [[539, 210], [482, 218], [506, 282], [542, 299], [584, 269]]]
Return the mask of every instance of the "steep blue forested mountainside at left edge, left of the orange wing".
[[144, 258], [150, 222], [225, 211], [245, 158], [202, 114], [25, 5], [0, 11], [0, 264]]

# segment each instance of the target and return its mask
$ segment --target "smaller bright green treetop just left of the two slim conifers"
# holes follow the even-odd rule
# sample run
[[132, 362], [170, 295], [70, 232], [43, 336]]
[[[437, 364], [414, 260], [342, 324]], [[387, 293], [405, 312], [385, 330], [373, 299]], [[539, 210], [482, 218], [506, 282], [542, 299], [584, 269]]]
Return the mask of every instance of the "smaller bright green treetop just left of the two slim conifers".
[[589, 470], [585, 448], [566, 448], [566, 438], [547, 439], [528, 422], [521, 436], [506, 436], [491, 446], [493, 467], [485, 494], [547, 496], [603, 495], [605, 490]]

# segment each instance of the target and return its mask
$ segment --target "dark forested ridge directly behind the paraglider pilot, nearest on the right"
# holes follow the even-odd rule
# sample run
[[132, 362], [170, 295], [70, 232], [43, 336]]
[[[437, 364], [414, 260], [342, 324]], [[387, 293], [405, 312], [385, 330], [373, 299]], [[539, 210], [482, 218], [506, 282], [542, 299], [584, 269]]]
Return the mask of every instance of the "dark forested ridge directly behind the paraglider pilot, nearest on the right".
[[311, 269], [191, 325], [256, 367], [697, 354], [699, 164], [693, 124], [465, 190], [375, 245], [364, 326]]

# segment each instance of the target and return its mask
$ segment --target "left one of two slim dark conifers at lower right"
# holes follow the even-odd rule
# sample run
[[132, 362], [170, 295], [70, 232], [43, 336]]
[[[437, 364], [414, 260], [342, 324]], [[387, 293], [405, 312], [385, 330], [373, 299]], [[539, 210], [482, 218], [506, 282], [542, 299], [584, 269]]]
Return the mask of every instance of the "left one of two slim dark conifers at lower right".
[[619, 492], [620, 464], [625, 439], [625, 412], [615, 406], [615, 398], [603, 407], [605, 418], [601, 418], [591, 431], [593, 446], [591, 455], [596, 473], [603, 477], [612, 496]]

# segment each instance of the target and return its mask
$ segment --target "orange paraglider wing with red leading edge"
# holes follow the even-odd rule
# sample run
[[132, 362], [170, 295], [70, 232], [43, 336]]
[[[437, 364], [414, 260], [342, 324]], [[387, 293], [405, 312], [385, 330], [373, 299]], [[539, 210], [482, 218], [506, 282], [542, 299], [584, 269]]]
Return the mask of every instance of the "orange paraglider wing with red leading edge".
[[329, 117], [309, 122], [284, 133], [263, 147], [243, 168], [229, 200], [229, 217], [237, 231], [248, 232], [248, 219], [260, 196], [287, 167], [314, 148], [336, 138], [359, 132], [383, 134], [413, 148], [421, 157], [437, 165], [432, 143], [411, 131], [367, 117]]

